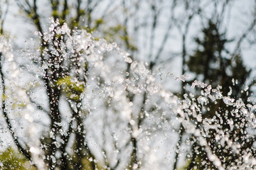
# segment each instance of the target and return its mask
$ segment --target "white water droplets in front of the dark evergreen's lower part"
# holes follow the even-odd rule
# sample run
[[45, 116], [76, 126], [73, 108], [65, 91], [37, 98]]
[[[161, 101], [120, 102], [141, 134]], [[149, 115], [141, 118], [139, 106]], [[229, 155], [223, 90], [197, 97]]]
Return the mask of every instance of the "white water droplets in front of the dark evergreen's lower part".
[[[235, 81], [234, 81], [235, 82]], [[236, 83], [237, 84], [237, 83]], [[210, 85], [204, 84], [200, 81], [194, 81], [191, 88], [198, 87], [201, 89], [201, 95], [191, 99], [188, 99], [188, 95], [184, 95], [183, 100], [183, 126], [188, 129], [188, 132], [198, 137], [199, 144], [203, 147], [208, 154], [208, 159], [210, 162], [218, 167], [218, 169], [251, 169], [255, 166], [256, 159], [252, 157], [252, 150], [246, 149], [242, 150], [243, 145], [247, 145], [250, 138], [254, 138], [255, 134], [247, 134], [249, 129], [255, 129], [255, 114], [253, 113], [253, 106], [250, 103], [245, 104], [242, 98], [232, 98], [232, 88], [228, 92], [228, 96], [223, 96], [221, 91], [222, 87], [217, 86], [216, 89], [212, 89]], [[247, 93], [247, 85], [245, 91], [242, 93]], [[219, 105], [220, 101], [223, 101], [227, 108], [221, 107]], [[214, 103], [212, 107], [208, 106], [208, 103]], [[202, 115], [206, 115], [208, 111], [218, 106], [219, 108], [215, 111], [215, 116], [210, 118], [203, 118]], [[231, 107], [231, 110], [228, 108]], [[209, 113], [208, 113], [209, 114]], [[187, 116], [188, 115], [188, 116]], [[190, 116], [192, 115], [192, 117]], [[196, 120], [196, 121], [195, 121]], [[240, 120], [238, 124], [235, 122]], [[198, 126], [198, 124], [200, 126]], [[228, 128], [224, 128], [225, 124], [229, 125]], [[245, 131], [243, 131], [244, 129]], [[235, 137], [232, 139], [233, 130], [242, 131], [242, 136]], [[214, 132], [214, 134], [213, 134]], [[215, 144], [206, 142], [206, 139], [213, 135]], [[231, 139], [230, 139], [231, 138]], [[238, 139], [239, 138], [239, 139]], [[244, 142], [240, 142], [240, 140]], [[213, 141], [212, 141], [213, 142]], [[213, 145], [213, 146], [210, 146]], [[213, 150], [212, 148], [215, 148]], [[238, 154], [239, 158], [235, 159], [236, 164], [230, 164], [228, 167], [223, 166], [225, 160], [221, 160], [213, 152], [218, 152], [218, 148], [224, 148], [224, 150], [230, 150], [233, 155]], [[250, 157], [248, 157], [250, 155]], [[244, 162], [243, 157], [246, 157], [247, 161]]]

